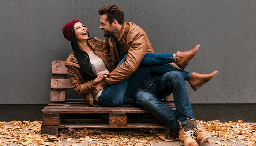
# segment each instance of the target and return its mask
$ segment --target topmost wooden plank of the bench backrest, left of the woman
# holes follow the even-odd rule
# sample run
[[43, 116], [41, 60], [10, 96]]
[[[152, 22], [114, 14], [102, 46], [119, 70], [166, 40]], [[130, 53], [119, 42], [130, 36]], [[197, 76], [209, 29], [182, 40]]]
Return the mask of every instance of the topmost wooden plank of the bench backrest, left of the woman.
[[68, 74], [68, 69], [65, 66], [65, 61], [54, 60], [52, 62], [52, 74]]

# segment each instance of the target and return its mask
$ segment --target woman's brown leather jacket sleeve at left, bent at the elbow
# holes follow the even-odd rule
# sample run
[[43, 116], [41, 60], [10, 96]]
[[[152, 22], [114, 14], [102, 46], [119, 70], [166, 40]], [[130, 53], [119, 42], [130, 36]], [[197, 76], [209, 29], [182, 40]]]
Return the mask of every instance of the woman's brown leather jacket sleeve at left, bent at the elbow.
[[82, 82], [82, 79], [79, 77], [81, 74], [78, 73], [78, 69], [76, 69], [74, 66], [68, 67], [68, 74], [70, 75], [71, 86], [74, 88], [76, 94], [84, 95], [91, 92], [95, 88], [92, 83], [93, 80], [86, 81], [84, 83]]

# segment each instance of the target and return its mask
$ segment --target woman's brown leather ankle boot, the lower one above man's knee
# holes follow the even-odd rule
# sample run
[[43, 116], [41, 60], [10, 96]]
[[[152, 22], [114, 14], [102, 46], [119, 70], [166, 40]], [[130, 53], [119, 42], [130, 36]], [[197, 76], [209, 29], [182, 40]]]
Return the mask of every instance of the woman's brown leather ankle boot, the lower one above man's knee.
[[216, 70], [210, 74], [200, 74], [200, 73], [193, 72], [190, 75], [188, 82], [191, 85], [191, 87], [196, 91], [197, 89], [202, 87], [203, 84], [207, 83], [212, 78], [214, 78], [217, 73], [218, 71]]

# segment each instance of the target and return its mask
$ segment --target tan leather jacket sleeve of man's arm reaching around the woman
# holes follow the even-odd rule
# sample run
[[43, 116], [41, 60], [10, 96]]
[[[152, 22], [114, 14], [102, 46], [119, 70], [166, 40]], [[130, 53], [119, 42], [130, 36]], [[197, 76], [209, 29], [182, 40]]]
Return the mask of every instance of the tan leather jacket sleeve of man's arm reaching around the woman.
[[125, 78], [131, 76], [139, 67], [146, 53], [147, 37], [142, 30], [138, 29], [132, 32], [127, 35], [127, 40], [130, 41], [126, 42], [129, 46], [126, 60], [100, 82], [103, 87], [123, 81]]

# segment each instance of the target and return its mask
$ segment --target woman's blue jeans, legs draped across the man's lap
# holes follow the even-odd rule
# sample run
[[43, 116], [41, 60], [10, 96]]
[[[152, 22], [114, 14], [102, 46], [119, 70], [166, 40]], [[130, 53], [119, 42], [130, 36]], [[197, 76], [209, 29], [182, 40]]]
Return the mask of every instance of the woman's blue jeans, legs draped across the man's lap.
[[[120, 61], [118, 66], [122, 64], [125, 59], [126, 56]], [[126, 104], [129, 99], [132, 99], [133, 94], [139, 89], [147, 75], [152, 72], [162, 75], [167, 72], [178, 71], [182, 73], [185, 80], [189, 79], [191, 73], [165, 64], [169, 62], [173, 62], [173, 54], [146, 53], [139, 68], [131, 77], [117, 84], [108, 85], [103, 88], [101, 96], [99, 96], [98, 99], [99, 105], [116, 107]]]

